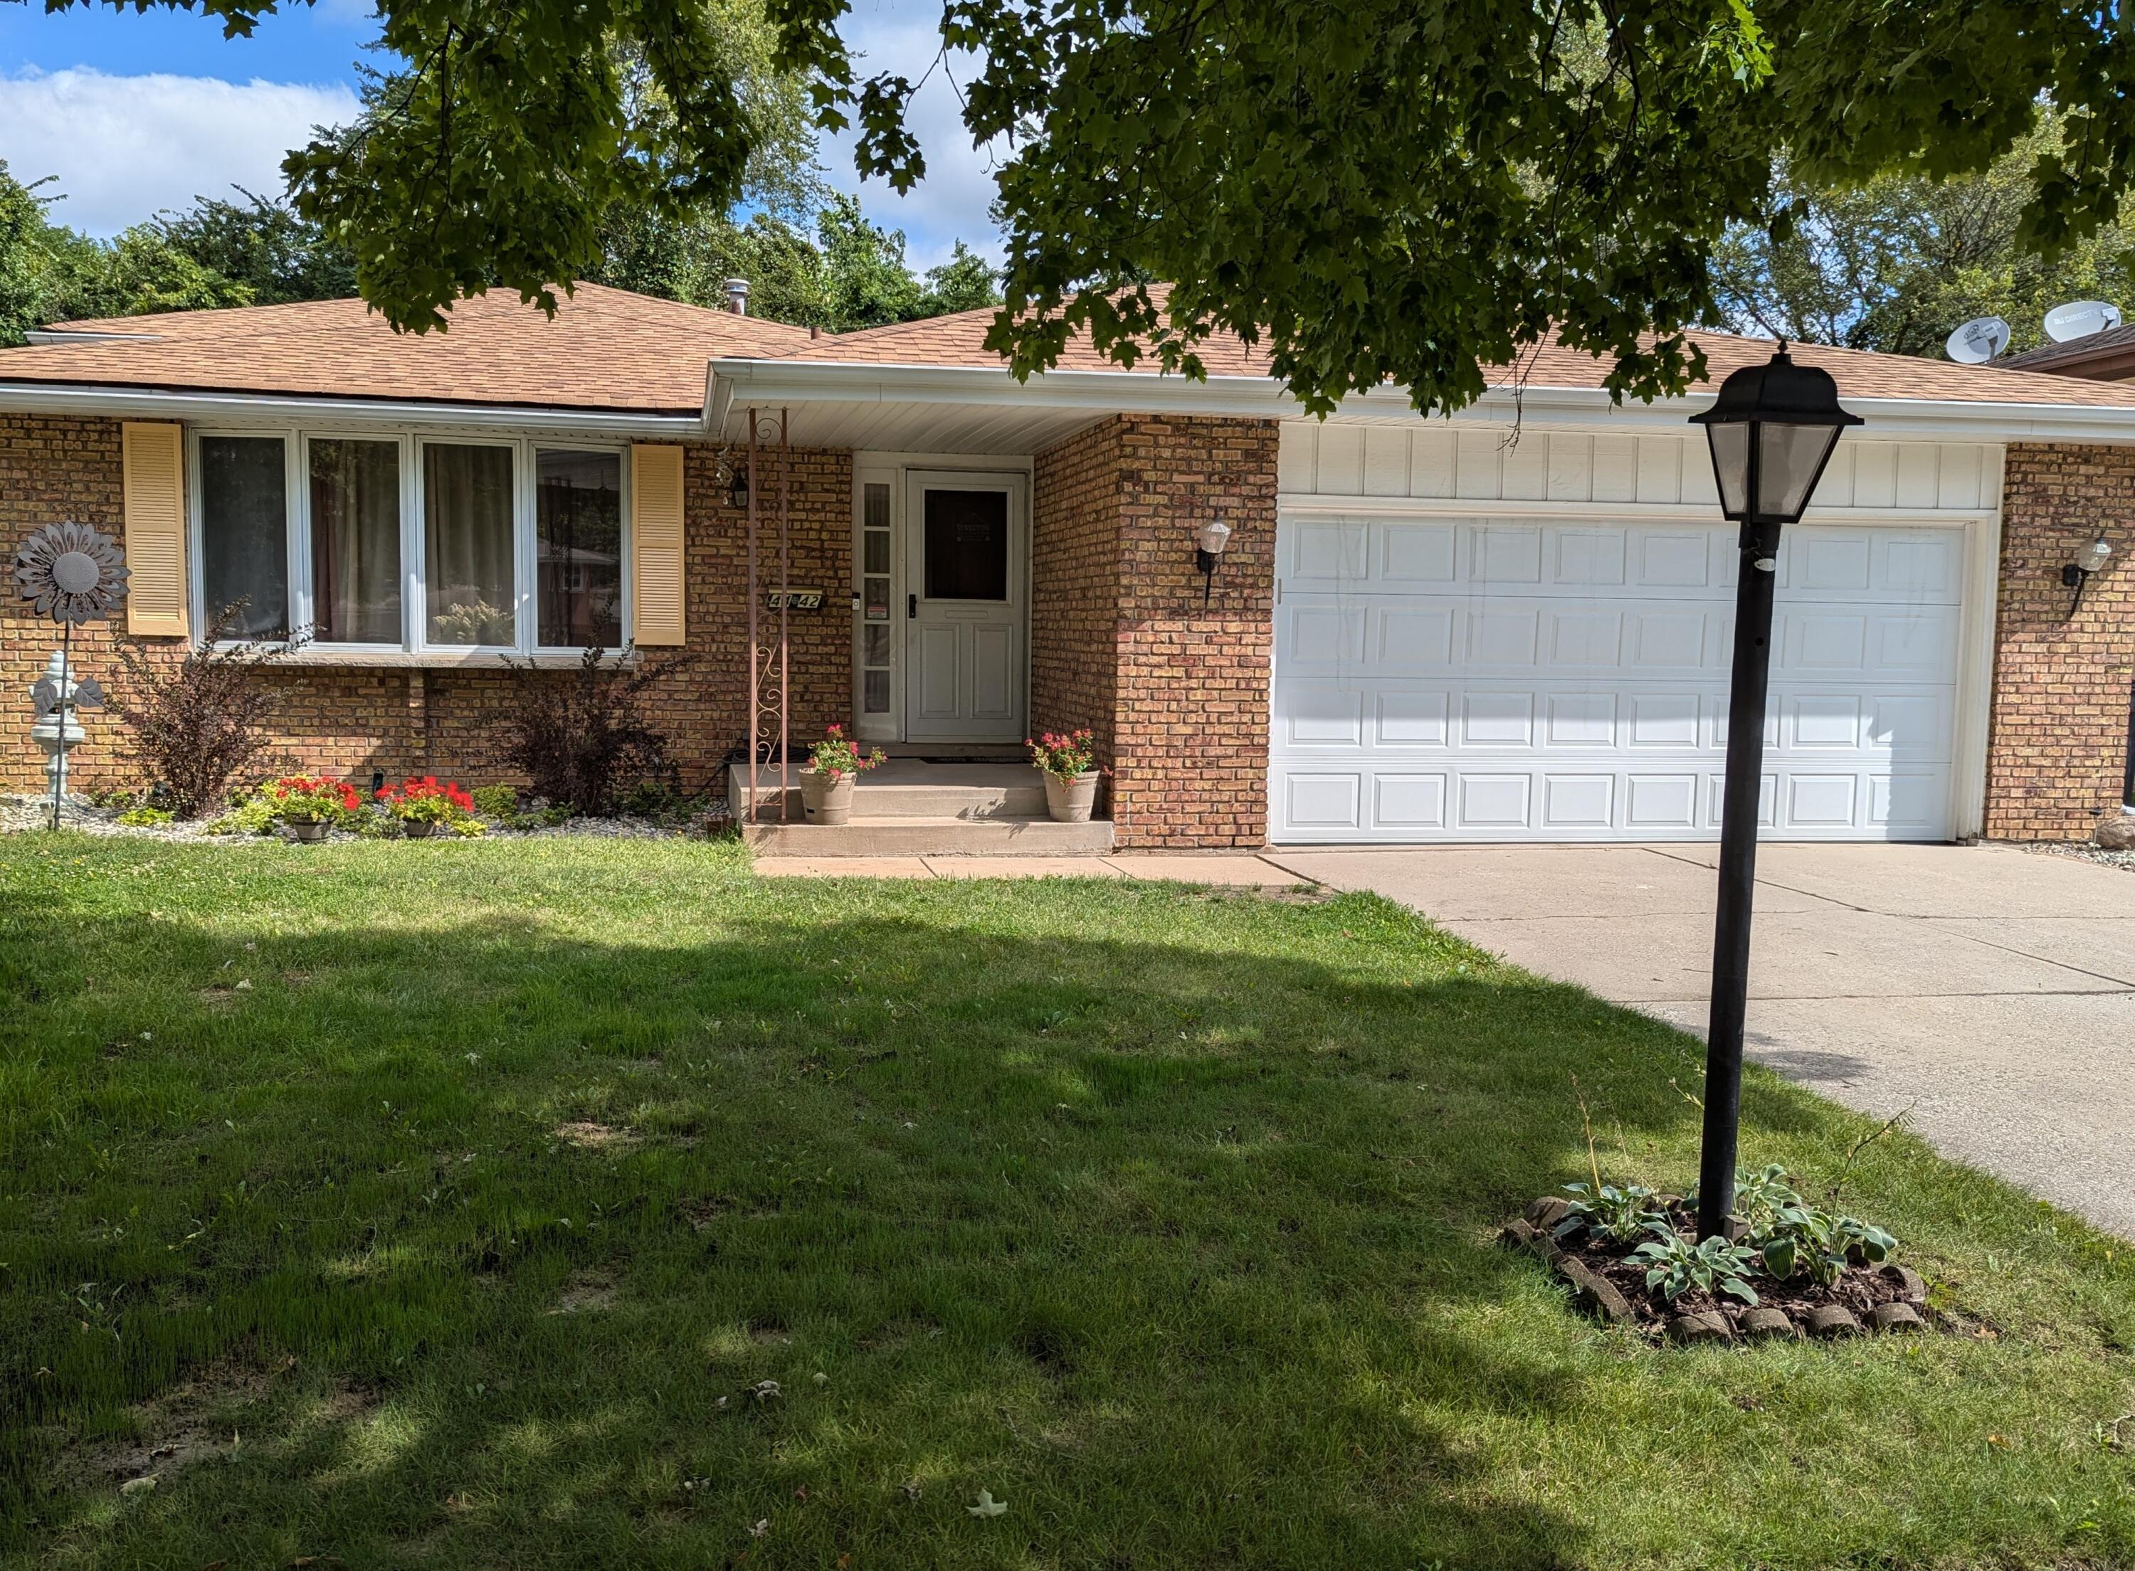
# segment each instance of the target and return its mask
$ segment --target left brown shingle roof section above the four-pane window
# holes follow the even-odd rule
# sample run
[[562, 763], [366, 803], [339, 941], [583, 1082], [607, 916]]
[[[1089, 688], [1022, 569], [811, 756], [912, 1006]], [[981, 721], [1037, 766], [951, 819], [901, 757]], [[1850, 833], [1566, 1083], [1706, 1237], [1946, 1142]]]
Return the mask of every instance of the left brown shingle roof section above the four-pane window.
[[553, 322], [512, 295], [478, 295], [453, 307], [446, 333], [395, 333], [354, 299], [62, 329], [156, 337], [0, 350], [0, 382], [696, 414], [707, 361], [784, 356], [809, 342], [805, 327], [600, 284], [579, 284]]

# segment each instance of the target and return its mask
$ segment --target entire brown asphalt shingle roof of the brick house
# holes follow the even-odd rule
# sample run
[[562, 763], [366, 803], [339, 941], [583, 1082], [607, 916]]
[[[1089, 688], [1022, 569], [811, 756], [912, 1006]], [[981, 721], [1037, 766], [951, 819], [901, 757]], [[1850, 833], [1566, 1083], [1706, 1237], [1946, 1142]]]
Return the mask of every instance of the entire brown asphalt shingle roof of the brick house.
[[[393, 333], [361, 301], [66, 322], [154, 337], [0, 350], [0, 382], [694, 414], [713, 359], [997, 367], [999, 356], [984, 346], [991, 320], [993, 312], [980, 310], [818, 339], [758, 316], [581, 284], [553, 322], [512, 297], [489, 295], [455, 305], [450, 331], [425, 335]], [[1714, 382], [1772, 352], [1768, 339], [1691, 337]], [[2135, 384], [1808, 344], [1793, 352], [1825, 367], [1840, 397], [2135, 408]], [[1268, 374], [1266, 352], [1230, 335], [1213, 337], [1200, 356], [1211, 376]], [[1061, 367], [1121, 369], [1087, 342], [1070, 344]], [[1155, 365], [1144, 359], [1136, 369], [1153, 374]], [[1606, 361], [1554, 342], [1518, 369], [1531, 388], [1599, 388], [1608, 376]], [[1512, 380], [1505, 367], [1490, 374], [1492, 384]]]

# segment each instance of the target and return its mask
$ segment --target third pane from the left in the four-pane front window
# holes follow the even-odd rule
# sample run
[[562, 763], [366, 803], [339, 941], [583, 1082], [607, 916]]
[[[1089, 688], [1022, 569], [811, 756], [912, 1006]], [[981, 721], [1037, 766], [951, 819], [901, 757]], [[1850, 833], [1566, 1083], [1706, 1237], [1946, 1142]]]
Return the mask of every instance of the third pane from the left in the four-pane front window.
[[512, 450], [423, 448], [423, 593], [433, 645], [512, 645]]

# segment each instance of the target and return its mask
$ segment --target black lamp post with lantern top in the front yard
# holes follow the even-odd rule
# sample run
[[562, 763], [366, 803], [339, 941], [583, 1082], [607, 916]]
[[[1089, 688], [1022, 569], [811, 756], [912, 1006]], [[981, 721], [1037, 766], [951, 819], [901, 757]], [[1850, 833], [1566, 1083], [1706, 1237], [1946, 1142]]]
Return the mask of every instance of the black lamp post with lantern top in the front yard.
[[1830, 371], [1796, 365], [1781, 339], [1766, 365], [1749, 365], [1721, 382], [1712, 408], [1693, 414], [1691, 425], [1706, 427], [1721, 512], [1742, 525], [1721, 796], [1721, 892], [1712, 924], [1706, 1125], [1697, 1161], [1697, 1236], [1712, 1238], [1734, 1210], [1736, 1138], [1742, 1123], [1742, 1016], [1749, 1001], [1749, 922], [1757, 884], [1778, 531], [1802, 517], [1840, 431], [1862, 425], [1862, 418], [1838, 408], [1838, 384]]

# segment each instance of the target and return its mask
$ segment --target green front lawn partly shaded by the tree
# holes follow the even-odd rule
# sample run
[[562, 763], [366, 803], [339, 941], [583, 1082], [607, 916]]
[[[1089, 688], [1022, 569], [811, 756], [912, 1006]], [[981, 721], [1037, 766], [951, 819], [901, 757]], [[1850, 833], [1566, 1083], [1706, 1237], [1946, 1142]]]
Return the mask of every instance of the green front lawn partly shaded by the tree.
[[1606, 1332], [1492, 1234], [1695, 1044], [1375, 899], [23, 835], [0, 982], [9, 1565], [2135, 1558], [2124, 1249], [1896, 1136], [1968, 1334]]

